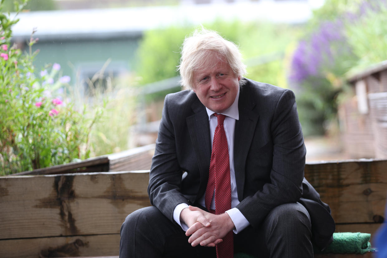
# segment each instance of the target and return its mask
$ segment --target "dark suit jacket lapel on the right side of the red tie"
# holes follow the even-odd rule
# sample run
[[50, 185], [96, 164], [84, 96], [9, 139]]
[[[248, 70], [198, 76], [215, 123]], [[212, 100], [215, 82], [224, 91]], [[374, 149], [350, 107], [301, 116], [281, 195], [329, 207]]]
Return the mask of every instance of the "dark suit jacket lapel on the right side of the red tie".
[[235, 121], [234, 133], [234, 169], [236, 190], [240, 201], [243, 199], [247, 154], [259, 118], [259, 115], [253, 111], [255, 100], [250, 98], [248, 91], [248, 85], [241, 87], [238, 101], [239, 120]]

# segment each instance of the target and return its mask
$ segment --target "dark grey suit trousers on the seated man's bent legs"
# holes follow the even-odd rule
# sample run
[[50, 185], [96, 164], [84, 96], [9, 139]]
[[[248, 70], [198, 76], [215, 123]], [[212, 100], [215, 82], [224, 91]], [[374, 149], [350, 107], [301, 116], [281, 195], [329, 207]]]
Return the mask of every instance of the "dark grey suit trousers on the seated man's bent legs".
[[[274, 208], [258, 228], [234, 234], [234, 252], [259, 258], [313, 258], [310, 217], [300, 203]], [[120, 258], [216, 258], [211, 247], [192, 247], [185, 232], [157, 208], [127, 216], [121, 227]]]

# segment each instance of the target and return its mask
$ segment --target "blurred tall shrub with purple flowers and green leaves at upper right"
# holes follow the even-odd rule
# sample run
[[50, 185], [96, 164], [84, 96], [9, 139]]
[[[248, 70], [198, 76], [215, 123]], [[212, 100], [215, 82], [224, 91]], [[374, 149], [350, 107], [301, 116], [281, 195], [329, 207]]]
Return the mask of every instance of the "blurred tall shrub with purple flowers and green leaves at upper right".
[[325, 133], [324, 125], [336, 120], [336, 99], [349, 70], [387, 57], [385, 2], [328, 0], [315, 12], [293, 53], [289, 74], [305, 135]]

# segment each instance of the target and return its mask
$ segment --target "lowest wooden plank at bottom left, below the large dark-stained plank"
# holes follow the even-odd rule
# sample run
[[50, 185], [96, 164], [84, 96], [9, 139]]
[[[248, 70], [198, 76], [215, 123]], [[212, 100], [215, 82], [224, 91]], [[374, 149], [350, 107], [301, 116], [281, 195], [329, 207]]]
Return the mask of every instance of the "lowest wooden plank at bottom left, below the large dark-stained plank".
[[117, 256], [120, 234], [0, 240], [0, 257]]

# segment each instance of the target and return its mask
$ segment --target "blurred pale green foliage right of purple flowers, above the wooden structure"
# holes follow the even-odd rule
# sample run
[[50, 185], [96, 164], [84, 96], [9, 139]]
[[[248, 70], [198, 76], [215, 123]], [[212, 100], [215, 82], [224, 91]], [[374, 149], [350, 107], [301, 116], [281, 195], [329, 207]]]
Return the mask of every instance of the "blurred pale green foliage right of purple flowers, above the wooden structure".
[[387, 60], [387, 6], [385, 2], [375, 4], [374, 10], [346, 25], [348, 43], [358, 57], [349, 73], [356, 73], [370, 65]]

